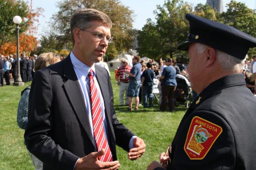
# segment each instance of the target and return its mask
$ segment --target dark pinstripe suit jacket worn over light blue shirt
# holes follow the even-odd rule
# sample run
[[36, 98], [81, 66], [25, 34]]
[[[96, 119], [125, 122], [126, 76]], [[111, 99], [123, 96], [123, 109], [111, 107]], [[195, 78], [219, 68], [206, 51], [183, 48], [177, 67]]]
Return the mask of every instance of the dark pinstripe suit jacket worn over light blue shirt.
[[[115, 114], [113, 90], [106, 69], [95, 65], [108, 122], [108, 143], [116, 160], [115, 145], [129, 150], [134, 134]], [[80, 84], [70, 57], [36, 71], [31, 85], [27, 149], [43, 162], [44, 170], [73, 170], [79, 157], [96, 151]]]

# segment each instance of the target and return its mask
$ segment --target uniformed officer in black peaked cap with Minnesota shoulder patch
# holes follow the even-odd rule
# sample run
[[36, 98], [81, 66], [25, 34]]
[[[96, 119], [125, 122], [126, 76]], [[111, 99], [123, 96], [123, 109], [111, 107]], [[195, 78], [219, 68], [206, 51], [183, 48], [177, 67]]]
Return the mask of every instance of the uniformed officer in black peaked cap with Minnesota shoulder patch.
[[256, 39], [192, 14], [188, 50], [192, 89], [199, 94], [172, 142], [148, 170], [256, 170], [256, 97], [246, 87], [244, 58]]

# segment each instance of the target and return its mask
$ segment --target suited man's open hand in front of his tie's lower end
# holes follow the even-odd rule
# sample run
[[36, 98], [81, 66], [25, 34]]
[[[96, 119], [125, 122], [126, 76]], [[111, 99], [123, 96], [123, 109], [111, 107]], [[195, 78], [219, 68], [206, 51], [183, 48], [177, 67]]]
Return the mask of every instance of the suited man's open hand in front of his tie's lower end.
[[105, 150], [92, 152], [89, 155], [78, 159], [74, 170], [118, 170], [120, 164], [118, 161], [101, 162], [98, 157], [104, 155]]

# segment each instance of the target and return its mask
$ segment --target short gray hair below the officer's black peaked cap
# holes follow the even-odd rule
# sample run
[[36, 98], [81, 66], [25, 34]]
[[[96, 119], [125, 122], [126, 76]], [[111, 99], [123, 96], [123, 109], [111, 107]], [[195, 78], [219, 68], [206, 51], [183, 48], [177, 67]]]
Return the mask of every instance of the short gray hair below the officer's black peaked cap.
[[[208, 45], [200, 44], [200, 43], [195, 44], [195, 51], [198, 54], [202, 54], [207, 48], [209, 48]], [[236, 71], [236, 72], [242, 73], [243, 67], [244, 67], [244, 59], [241, 60], [221, 50], [217, 50], [217, 49], [215, 50], [216, 50], [216, 58], [218, 62], [221, 64], [223, 69], [227, 71]]]

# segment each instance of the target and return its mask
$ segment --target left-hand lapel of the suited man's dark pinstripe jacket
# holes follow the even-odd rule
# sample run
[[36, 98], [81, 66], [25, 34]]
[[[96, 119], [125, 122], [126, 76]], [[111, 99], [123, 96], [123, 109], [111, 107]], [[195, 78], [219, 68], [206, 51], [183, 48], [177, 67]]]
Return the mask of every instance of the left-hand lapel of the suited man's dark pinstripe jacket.
[[74, 112], [80, 120], [82, 127], [94, 145], [90, 122], [84, 104], [84, 97], [82, 95], [82, 90], [75, 74], [70, 56], [67, 56], [67, 58], [63, 61], [63, 66], [63, 76], [66, 77], [66, 82], [64, 82], [63, 88], [67, 92], [67, 97], [69, 98], [69, 101], [72, 104]]

